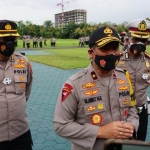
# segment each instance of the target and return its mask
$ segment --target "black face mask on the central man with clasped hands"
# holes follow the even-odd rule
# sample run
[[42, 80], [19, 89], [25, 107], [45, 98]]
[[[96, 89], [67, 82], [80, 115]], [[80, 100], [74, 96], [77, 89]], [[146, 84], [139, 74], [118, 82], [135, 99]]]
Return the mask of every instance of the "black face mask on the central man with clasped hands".
[[118, 64], [121, 56], [116, 56], [113, 54], [106, 56], [99, 56], [95, 54], [95, 64], [102, 70], [111, 71]]

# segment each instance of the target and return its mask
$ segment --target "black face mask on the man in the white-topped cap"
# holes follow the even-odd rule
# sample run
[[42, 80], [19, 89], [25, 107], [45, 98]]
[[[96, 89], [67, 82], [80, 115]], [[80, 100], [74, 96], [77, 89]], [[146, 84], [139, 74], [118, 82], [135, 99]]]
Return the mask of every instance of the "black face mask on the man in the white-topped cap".
[[130, 46], [130, 52], [135, 56], [140, 56], [141, 52], [145, 52], [146, 46], [142, 43], [132, 44]]

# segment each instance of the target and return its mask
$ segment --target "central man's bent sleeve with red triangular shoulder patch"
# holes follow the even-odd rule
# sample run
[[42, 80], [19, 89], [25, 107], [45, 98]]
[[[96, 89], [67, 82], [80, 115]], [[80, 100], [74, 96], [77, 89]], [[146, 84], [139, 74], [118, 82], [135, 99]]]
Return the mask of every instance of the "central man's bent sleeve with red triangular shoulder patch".
[[[73, 84], [68, 80], [63, 87], [55, 108], [54, 130], [59, 135], [72, 143], [92, 150], [97, 138], [99, 127], [89, 123], [80, 124], [76, 121], [78, 111], [78, 100]], [[80, 114], [82, 116], [82, 114]]]

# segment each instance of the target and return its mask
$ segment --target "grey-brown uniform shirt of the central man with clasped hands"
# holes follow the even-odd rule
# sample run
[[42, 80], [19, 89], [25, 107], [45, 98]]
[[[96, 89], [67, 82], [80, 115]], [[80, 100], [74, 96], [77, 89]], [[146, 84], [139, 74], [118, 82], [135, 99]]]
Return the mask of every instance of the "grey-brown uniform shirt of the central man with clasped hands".
[[106, 139], [97, 138], [100, 126], [125, 121], [137, 130], [139, 120], [135, 107], [130, 107], [129, 88], [122, 70], [103, 80], [90, 64], [62, 87], [54, 113], [56, 133], [73, 143], [72, 150], [103, 150]]

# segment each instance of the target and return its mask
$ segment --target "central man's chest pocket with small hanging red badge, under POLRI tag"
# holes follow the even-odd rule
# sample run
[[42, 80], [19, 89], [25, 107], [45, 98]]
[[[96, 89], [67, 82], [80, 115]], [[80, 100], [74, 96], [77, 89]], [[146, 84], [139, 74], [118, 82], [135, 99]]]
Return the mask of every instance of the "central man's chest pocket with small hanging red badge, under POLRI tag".
[[121, 120], [125, 121], [127, 119], [130, 107], [130, 97], [127, 96], [119, 98], [119, 104], [120, 104]]

